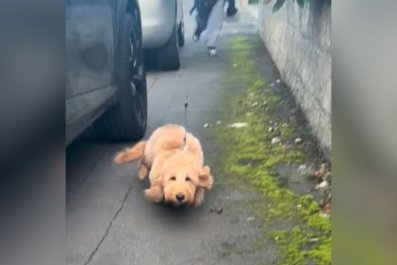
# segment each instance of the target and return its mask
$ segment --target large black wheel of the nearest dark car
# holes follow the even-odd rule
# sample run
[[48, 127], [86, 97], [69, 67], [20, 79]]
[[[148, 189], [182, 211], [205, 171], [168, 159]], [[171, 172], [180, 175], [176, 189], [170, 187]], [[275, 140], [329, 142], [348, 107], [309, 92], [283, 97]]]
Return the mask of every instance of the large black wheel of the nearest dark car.
[[105, 140], [139, 140], [146, 131], [146, 72], [140, 32], [138, 18], [124, 14], [116, 55], [118, 103], [95, 123], [99, 136]]

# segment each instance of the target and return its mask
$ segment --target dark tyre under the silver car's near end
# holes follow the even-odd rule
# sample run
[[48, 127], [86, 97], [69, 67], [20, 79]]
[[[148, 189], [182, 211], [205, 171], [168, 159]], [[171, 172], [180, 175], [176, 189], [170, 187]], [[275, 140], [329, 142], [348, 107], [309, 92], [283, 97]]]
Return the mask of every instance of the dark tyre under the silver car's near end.
[[169, 41], [158, 50], [157, 62], [162, 70], [178, 70], [179, 63], [179, 44], [178, 44], [178, 27], [172, 33]]

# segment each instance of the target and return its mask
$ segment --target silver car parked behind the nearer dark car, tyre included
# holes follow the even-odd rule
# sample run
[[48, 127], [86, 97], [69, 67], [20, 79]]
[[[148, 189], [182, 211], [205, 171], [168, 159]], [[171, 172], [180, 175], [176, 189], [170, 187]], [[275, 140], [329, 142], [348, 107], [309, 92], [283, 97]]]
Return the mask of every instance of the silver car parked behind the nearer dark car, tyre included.
[[185, 42], [183, 0], [139, 0], [143, 48], [155, 49], [158, 66], [179, 69], [179, 47]]

